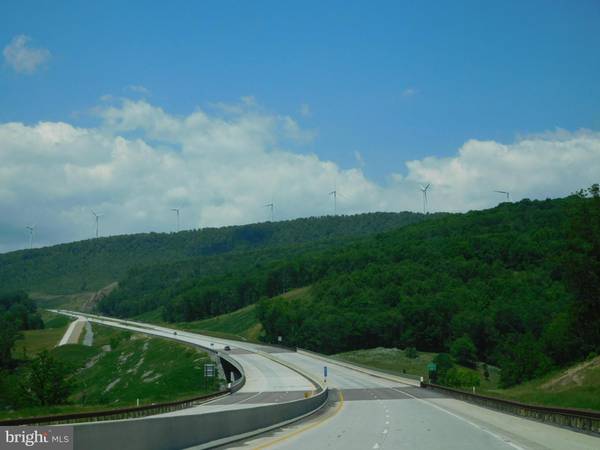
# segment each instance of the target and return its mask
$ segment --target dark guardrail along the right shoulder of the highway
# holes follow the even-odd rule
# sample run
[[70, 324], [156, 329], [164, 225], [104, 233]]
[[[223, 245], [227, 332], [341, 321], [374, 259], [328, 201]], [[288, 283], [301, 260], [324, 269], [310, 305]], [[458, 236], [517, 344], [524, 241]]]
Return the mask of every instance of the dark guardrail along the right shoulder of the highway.
[[514, 400], [473, 394], [432, 383], [421, 383], [421, 387], [436, 389], [470, 403], [485, 406], [505, 413], [527, 417], [541, 422], [572, 428], [592, 434], [600, 434], [600, 412], [574, 408], [553, 408], [521, 403]]

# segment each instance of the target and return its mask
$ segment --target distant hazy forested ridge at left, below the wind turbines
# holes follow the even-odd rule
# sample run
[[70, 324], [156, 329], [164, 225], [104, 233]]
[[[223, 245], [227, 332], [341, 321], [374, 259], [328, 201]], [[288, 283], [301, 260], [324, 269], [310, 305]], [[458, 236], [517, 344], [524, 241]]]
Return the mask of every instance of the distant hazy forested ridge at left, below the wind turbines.
[[[421, 221], [422, 214], [372, 213], [326, 216], [179, 233], [144, 233], [90, 239], [0, 254], [0, 290], [74, 293], [97, 290], [132, 268], [204, 259], [223, 267], [226, 255], [289, 246], [310, 246], [367, 236]], [[180, 264], [185, 266], [185, 264]]]

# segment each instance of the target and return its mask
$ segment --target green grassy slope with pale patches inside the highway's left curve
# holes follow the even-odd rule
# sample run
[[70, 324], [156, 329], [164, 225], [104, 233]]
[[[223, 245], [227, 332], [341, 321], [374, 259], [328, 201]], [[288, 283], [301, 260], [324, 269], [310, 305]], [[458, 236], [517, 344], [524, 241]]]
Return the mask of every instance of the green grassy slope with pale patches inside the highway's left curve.
[[[219, 390], [204, 378], [206, 352], [168, 339], [151, 338], [98, 324], [91, 347], [69, 344], [50, 350], [66, 363], [75, 383], [68, 404], [0, 411], [1, 418], [93, 411], [174, 401]], [[46, 331], [46, 330], [42, 330]]]

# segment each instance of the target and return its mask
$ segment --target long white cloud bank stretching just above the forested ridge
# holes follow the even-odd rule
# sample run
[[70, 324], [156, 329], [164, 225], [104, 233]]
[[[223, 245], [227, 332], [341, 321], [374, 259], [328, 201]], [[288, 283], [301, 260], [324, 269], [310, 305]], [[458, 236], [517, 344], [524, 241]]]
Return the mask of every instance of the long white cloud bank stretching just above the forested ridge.
[[230, 110], [179, 117], [124, 100], [97, 109], [95, 128], [0, 124], [0, 251], [25, 247], [33, 223], [34, 245], [91, 237], [92, 209], [105, 214], [102, 235], [167, 231], [175, 207], [182, 228], [264, 221], [271, 199], [276, 219], [330, 214], [334, 184], [340, 213], [421, 210], [418, 185], [430, 182], [432, 211], [465, 211], [497, 204], [496, 189], [515, 200], [562, 196], [600, 174], [600, 133], [561, 131], [508, 145], [468, 141], [378, 184], [360, 168], [284, 149], [312, 136], [292, 118], [248, 102]]

